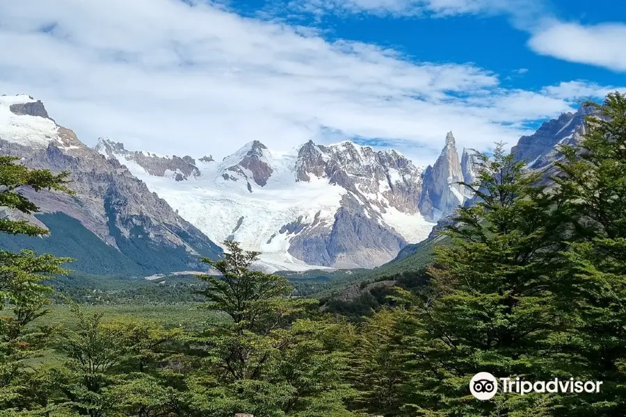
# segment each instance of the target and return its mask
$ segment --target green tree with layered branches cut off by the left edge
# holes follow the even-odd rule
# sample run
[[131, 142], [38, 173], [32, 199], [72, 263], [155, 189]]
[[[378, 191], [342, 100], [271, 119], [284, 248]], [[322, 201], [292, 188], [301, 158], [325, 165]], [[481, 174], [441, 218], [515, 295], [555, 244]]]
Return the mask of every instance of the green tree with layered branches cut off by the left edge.
[[[0, 206], [9, 213], [32, 214], [38, 207], [20, 191], [32, 188], [71, 193], [65, 186], [68, 173], [52, 174], [49, 170], [31, 170], [16, 163], [19, 158], [0, 156]], [[26, 220], [0, 219], [0, 232], [45, 236], [48, 231]], [[38, 352], [49, 336], [50, 329], [27, 327], [45, 314], [43, 307], [49, 302], [51, 288], [42, 284], [51, 275], [67, 273], [63, 263], [67, 258], [56, 258], [31, 251], [12, 253], [0, 250], [0, 415], [29, 409], [32, 399], [24, 395], [28, 386], [25, 380], [25, 361]]]

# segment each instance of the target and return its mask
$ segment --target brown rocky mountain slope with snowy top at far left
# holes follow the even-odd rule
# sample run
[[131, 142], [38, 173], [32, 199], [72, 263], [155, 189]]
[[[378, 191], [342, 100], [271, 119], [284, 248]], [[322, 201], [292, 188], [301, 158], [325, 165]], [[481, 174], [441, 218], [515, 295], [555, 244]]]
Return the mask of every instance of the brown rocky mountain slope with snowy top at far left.
[[[107, 245], [106, 252], [111, 256], [107, 255], [106, 259], [126, 265], [124, 270], [147, 275], [188, 270], [198, 266], [199, 255], [217, 259], [221, 254], [218, 246], [177, 215], [165, 200], [151, 193], [145, 183], [118, 161], [106, 159], [86, 147], [74, 132], [58, 126], [48, 117], [43, 104], [32, 97], [0, 97], [0, 154], [19, 156], [21, 163], [29, 167], [70, 172], [74, 196], [48, 191], [34, 193], [29, 189], [22, 193], [40, 206], [42, 213], [64, 213], [67, 218], [40, 216], [33, 221], [52, 226], [63, 218], [66, 224], [73, 224], [76, 231], [73, 238], [83, 236], [83, 240], [74, 243], [93, 247], [95, 264], [101, 263], [97, 257], [102, 254], [102, 247], [97, 249], [93, 237], [86, 237], [88, 233]], [[5, 245], [10, 245], [6, 239]], [[33, 246], [42, 247], [35, 243]], [[115, 256], [109, 248], [115, 250]], [[97, 251], [100, 253], [96, 254]], [[63, 248], [57, 252], [63, 252]], [[83, 260], [79, 265], [88, 269], [89, 264]]]

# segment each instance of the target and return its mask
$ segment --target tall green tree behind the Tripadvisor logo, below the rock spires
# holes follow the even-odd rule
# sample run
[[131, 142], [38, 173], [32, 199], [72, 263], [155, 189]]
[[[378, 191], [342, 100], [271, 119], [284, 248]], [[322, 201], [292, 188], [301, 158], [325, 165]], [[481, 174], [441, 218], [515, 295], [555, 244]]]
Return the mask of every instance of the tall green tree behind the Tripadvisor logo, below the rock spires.
[[497, 395], [476, 401], [469, 382], [479, 372], [541, 380], [558, 373], [550, 355], [563, 331], [552, 279], [562, 267], [562, 202], [540, 174], [504, 154], [477, 155], [476, 195], [460, 207], [436, 250], [426, 296], [401, 291], [396, 302], [415, 316], [399, 323], [406, 363], [407, 415], [547, 416], [545, 396]]

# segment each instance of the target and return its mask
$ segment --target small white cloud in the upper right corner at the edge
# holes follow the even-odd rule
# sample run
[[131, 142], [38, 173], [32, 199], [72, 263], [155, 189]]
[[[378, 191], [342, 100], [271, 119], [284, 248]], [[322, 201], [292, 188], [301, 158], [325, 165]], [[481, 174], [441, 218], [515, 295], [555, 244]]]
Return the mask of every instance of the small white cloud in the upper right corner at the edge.
[[626, 72], [626, 24], [582, 26], [554, 22], [534, 33], [529, 47], [538, 54], [554, 56]]

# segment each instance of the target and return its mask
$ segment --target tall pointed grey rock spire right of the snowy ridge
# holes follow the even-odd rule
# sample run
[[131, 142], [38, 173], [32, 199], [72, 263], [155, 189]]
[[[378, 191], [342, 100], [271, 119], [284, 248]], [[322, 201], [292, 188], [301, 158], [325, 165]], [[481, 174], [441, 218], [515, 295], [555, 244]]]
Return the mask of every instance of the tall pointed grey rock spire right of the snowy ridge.
[[431, 220], [438, 220], [454, 212], [465, 201], [464, 181], [458, 150], [452, 132], [446, 135], [446, 145], [435, 165], [424, 171], [419, 211]]

